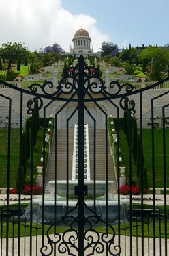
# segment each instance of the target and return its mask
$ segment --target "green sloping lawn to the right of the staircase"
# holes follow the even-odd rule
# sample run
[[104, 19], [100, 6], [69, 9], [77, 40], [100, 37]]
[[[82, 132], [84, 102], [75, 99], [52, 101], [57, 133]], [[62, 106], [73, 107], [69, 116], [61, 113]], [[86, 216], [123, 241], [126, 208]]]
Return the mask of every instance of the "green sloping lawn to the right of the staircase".
[[[166, 133], [166, 184], [169, 183], [169, 147], [167, 142], [169, 141], [169, 130], [165, 130]], [[152, 136], [151, 129], [143, 129], [142, 131], [142, 143], [144, 151], [144, 166], [147, 168], [147, 182], [148, 188], [153, 186], [153, 158], [152, 158]], [[164, 154], [163, 154], [163, 130], [154, 130], [154, 165], [155, 165], [155, 187], [164, 187]], [[126, 175], [129, 180], [129, 149], [127, 146], [126, 136], [123, 131], [120, 131], [120, 148], [123, 162], [126, 165]], [[132, 180], [138, 184], [138, 178], [136, 175], [136, 163], [132, 160]]]

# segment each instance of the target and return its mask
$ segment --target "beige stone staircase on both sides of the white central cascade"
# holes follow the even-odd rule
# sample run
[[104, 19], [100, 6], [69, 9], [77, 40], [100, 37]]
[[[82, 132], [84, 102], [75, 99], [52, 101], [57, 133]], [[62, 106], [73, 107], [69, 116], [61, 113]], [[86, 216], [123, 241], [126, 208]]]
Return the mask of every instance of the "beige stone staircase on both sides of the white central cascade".
[[[66, 149], [66, 129], [57, 129], [57, 180], [65, 180], [67, 175], [67, 149]], [[74, 142], [74, 129], [69, 131], [69, 179], [72, 179], [72, 155], [73, 155], [73, 142]], [[106, 180], [106, 159], [105, 159], [105, 130], [96, 130], [96, 179]], [[54, 166], [55, 166], [55, 142], [52, 143], [48, 170], [46, 172], [46, 183], [55, 179]], [[89, 152], [90, 152], [90, 168], [91, 168], [91, 180], [93, 180], [93, 129], [89, 129]], [[110, 145], [108, 142], [108, 180], [114, 181], [116, 185], [116, 177], [114, 172], [114, 164], [112, 155], [110, 153]]]

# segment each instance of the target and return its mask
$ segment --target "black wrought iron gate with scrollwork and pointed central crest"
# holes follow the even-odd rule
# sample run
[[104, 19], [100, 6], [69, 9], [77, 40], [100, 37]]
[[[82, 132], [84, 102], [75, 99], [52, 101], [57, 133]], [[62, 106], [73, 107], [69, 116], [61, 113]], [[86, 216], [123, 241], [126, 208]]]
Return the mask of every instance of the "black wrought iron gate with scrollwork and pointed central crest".
[[[97, 69], [87, 66], [82, 55], [78, 64], [71, 70], [67, 69], [65, 74], [56, 88], [50, 81], [44, 81], [42, 85], [33, 83], [29, 90], [0, 81], [1, 86], [3, 85], [1, 104], [4, 103], [1, 108], [1, 125], [4, 125], [4, 119], [6, 127], [0, 130], [0, 138], [1, 143], [5, 143], [4, 140], [8, 142], [7, 149], [0, 147], [1, 166], [5, 164], [7, 170], [5, 175], [1, 173], [7, 194], [5, 197], [1, 196], [3, 205], [1, 204], [0, 254], [168, 255], [169, 91], [166, 88], [162, 92], [168, 79], [139, 90], [132, 84], [121, 85], [118, 81], [112, 81], [105, 86], [103, 79], [97, 74]], [[7, 90], [12, 91], [6, 93]], [[12, 115], [14, 116], [16, 101], [20, 104], [19, 129], [16, 129], [18, 134], [12, 132]], [[147, 110], [143, 110], [144, 107]], [[48, 109], [54, 114], [53, 117], [47, 114]], [[25, 177], [23, 159], [26, 149], [23, 129], [26, 110], [29, 114], [31, 149], [28, 160], [30, 190], [25, 190], [29, 190], [30, 196], [23, 196], [21, 193], [22, 176]], [[37, 133], [39, 112], [42, 123], [39, 125], [41, 131]], [[4, 113], [7, 113], [5, 118]], [[46, 120], [50, 123], [46, 123]], [[140, 150], [140, 157], [135, 161], [137, 164], [133, 161], [134, 120], [138, 122], [140, 138], [137, 140], [137, 150]], [[89, 126], [85, 127], [88, 122]], [[76, 133], [71, 133], [74, 131], [74, 123], [77, 124]], [[122, 132], [124, 126], [125, 138]], [[151, 150], [142, 153], [146, 144], [145, 127], [149, 127], [147, 138], [150, 138]], [[46, 135], [47, 129], [48, 133], [52, 133], [49, 139]], [[4, 130], [6, 133], [3, 133]], [[117, 138], [113, 139], [111, 136], [114, 131], [117, 131]], [[37, 174], [34, 168], [37, 164], [35, 141], [38, 138], [35, 138], [35, 134], [40, 133], [43, 177], [39, 172], [37, 180], [42, 182], [43, 192], [42, 196], [36, 196], [33, 185], [34, 172]], [[5, 139], [3, 136], [6, 136]], [[16, 157], [12, 144], [13, 136], [18, 136], [19, 158], [18, 166], [15, 166], [16, 170], [18, 169], [17, 178], [16, 171], [13, 175], [12, 168], [12, 157]], [[104, 142], [99, 144], [101, 136], [104, 136]], [[63, 144], [65, 155], [61, 147], [59, 148], [59, 145]], [[123, 147], [123, 151], [122, 144], [127, 145], [127, 148]], [[72, 157], [74, 147], [76, 150]], [[157, 147], [160, 147], [162, 157], [157, 156]], [[89, 150], [91, 153], [88, 155], [87, 170], [86, 155]], [[112, 153], [110, 163], [109, 151]], [[3, 155], [6, 155], [6, 158]], [[50, 181], [48, 173], [51, 162], [54, 176], [53, 181], [47, 183]], [[65, 164], [63, 170], [59, 162]], [[122, 186], [126, 177], [123, 173], [121, 175], [121, 162], [125, 162], [127, 166], [126, 186]], [[149, 165], [148, 170], [145, 170], [144, 162]], [[101, 164], [102, 171], [99, 172]], [[161, 170], [162, 188], [158, 185], [158, 168]], [[115, 174], [114, 183], [112, 172]], [[152, 180], [149, 182], [149, 196], [145, 191], [146, 178]], [[15, 197], [10, 194], [11, 179], [18, 181], [18, 195]], [[134, 180], [140, 185], [139, 195]], [[157, 195], [159, 191], [162, 192], [161, 195]], [[24, 201], [29, 202], [25, 211], [22, 209]], [[12, 207], [14, 202], [16, 205]]]

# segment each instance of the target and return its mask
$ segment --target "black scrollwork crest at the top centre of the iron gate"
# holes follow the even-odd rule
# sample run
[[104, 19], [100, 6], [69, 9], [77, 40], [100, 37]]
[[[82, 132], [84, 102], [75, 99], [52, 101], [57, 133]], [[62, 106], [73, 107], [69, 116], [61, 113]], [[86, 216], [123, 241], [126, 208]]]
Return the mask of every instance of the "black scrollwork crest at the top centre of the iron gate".
[[[107, 97], [116, 96], [123, 89], [125, 89], [125, 92], [132, 92], [134, 89], [132, 84], [125, 83], [121, 85], [119, 84], [119, 81], [111, 81], [109, 86], [106, 87], [103, 79], [98, 75], [97, 68], [87, 66], [82, 55], [79, 57], [78, 64], [71, 68], [65, 68], [64, 73], [65, 76], [61, 78], [59, 85], [56, 88], [54, 88], [54, 84], [51, 81], [45, 80], [44, 84], [31, 84], [29, 89], [31, 92], [35, 93], [39, 88], [45, 96], [55, 97], [56, 99], [63, 99], [64, 95], [72, 94], [72, 92], [76, 92], [76, 94], [78, 94], [80, 86], [84, 86], [84, 90], [85, 92], [88, 92], [88, 94], [97, 94], [98, 99], [101, 97], [106, 99]], [[83, 76], [82, 80], [80, 80], [80, 75]], [[109, 92], [109, 89], [111, 88], [114, 88], [113, 92]], [[53, 90], [50, 91], [48, 89]], [[66, 100], [68, 98], [64, 99]], [[78, 101], [78, 99], [73, 99], [72, 101]], [[89, 101], [89, 98], [87, 101]]]

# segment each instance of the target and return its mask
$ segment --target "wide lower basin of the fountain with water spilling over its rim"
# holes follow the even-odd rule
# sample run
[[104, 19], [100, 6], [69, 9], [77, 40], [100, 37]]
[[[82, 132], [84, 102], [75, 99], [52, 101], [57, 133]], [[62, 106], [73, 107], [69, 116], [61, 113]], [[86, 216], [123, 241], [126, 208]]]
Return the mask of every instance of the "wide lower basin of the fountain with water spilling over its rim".
[[[42, 222], [42, 212], [44, 209], [44, 221], [47, 223], [53, 223], [55, 220], [57, 222], [62, 222], [63, 216], [68, 212], [71, 212], [67, 216], [67, 221], [72, 221], [72, 217], [76, 218], [78, 216], [78, 206], [75, 207], [77, 204], [77, 200], [70, 199], [68, 201], [68, 208], [67, 202], [61, 197], [57, 197], [57, 201], [51, 200], [49, 197], [46, 197], [44, 201], [44, 207], [42, 203], [42, 199], [33, 199], [33, 221]], [[88, 218], [89, 216], [93, 216], [93, 206], [94, 200], [85, 200], [85, 204], [87, 207], [84, 206], [84, 216]], [[128, 208], [129, 200], [128, 199], [121, 199], [119, 205], [120, 211], [120, 220], [125, 220], [125, 209]], [[55, 211], [56, 207], [56, 211]], [[108, 211], [106, 210], [108, 207]], [[117, 198], [108, 200], [108, 205], [106, 205], [106, 201], [104, 199], [98, 199], [95, 201], [95, 213], [97, 216], [104, 221], [106, 221], [106, 212], [108, 214], [108, 221], [109, 222], [116, 222], [119, 218], [119, 211], [118, 211], [118, 201]], [[55, 216], [56, 214], [56, 216]], [[93, 217], [94, 221], [94, 217]]]

